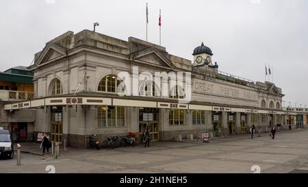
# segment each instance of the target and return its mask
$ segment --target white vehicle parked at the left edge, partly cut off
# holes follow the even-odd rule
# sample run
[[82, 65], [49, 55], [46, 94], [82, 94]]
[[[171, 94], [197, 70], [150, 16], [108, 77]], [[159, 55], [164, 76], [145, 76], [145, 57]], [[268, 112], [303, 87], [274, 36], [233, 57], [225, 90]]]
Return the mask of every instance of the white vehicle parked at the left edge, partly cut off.
[[0, 129], [0, 158], [14, 158], [14, 143], [8, 130]]

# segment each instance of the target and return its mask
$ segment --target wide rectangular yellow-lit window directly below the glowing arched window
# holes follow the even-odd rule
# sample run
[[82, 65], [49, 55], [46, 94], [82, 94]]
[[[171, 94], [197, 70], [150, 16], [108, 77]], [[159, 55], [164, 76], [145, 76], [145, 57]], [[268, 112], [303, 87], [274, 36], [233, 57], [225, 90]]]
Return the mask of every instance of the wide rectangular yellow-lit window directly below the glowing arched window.
[[125, 126], [125, 107], [101, 106], [97, 109], [98, 127], [124, 127]]

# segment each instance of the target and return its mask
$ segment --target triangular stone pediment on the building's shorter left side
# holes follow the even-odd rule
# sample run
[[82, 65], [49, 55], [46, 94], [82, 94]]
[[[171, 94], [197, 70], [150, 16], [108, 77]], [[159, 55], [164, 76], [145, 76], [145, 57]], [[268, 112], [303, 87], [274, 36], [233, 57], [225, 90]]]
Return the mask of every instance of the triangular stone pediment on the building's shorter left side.
[[40, 53], [36, 64], [44, 64], [56, 58], [60, 58], [64, 55], [66, 55], [66, 52], [63, 47], [54, 44], [47, 44], [46, 47], [43, 49], [42, 53]]

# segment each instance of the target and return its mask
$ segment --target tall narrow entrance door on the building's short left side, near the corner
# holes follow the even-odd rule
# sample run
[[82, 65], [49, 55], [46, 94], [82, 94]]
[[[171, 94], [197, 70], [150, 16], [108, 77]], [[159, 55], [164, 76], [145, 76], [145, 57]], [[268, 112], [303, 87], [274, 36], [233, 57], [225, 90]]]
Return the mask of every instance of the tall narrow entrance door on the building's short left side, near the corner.
[[62, 142], [62, 107], [51, 110], [51, 141]]

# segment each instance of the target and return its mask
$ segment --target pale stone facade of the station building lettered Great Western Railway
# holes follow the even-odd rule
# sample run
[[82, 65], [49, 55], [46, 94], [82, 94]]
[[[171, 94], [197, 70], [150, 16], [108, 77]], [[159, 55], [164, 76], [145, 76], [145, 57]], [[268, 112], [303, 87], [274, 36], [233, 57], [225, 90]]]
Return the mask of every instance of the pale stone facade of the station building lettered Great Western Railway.
[[[194, 57], [194, 59], [196, 59]], [[66, 32], [49, 42], [42, 51], [36, 53], [35, 64], [29, 69], [34, 72], [34, 92], [36, 99], [53, 97], [118, 97], [116, 93], [100, 92], [101, 79], [106, 75], [118, 75], [126, 71], [133, 74], [133, 67], [138, 71], [149, 72], [190, 72], [192, 74], [192, 99], [190, 104], [209, 106], [202, 110], [198, 118], [202, 124], [194, 125], [194, 110], [184, 110], [185, 125], [170, 125], [172, 108], [158, 110], [158, 140], [172, 140], [183, 132], [191, 132], [194, 137], [202, 132], [213, 132], [213, 136], [226, 136], [235, 128], [235, 133], [248, 133], [251, 127], [253, 110], [257, 119], [254, 123], [264, 131], [264, 127], [283, 123], [281, 101], [283, 94], [270, 82], [249, 82], [238, 77], [222, 75], [216, 69], [207, 66], [193, 66], [190, 60], [171, 55], [165, 47], [154, 45], [138, 38], [129, 37], [127, 41], [84, 30], [77, 34]], [[55, 80], [60, 80], [62, 92], [53, 95]], [[129, 98], [129, 97], [127, 97]], [[168, 97], [135, 97], [139, 101], [166, 101], [177, 103], [177, 99]], [[266, 107], [261, 107], [261, 102]], [[272, 114], [268, 113], [269, 103], [274, 103]], [[279, 103], [279, 108], [276, 108]], [[218, 109], [214, 110], [214, 106]], [[62, 141], [68, 145], [85, 147], [86, 136], [98, 134], [103, 139], [106, 135], [140, 132], [140, 107], [125, 107], [125, 125], [120, 127], [99, 127], [98, 110], [101, 105], [62, 105]], [[227, 110], [230, 108], [231, 110]], [[234, 108], [234, 110], [233, 110]], [[224, 110], [225, 109], [225, 110]], [[251, 112], [247, 111], [251, 110]], [[52, 132], [51, 123], [54, 107], [44, 105], [36, 108], [34, 132]], [[216, 111], [216, 112], [215, 112]], [[265, 119], [261, 121], [262, 111]], [[232, 112], [232, 113], [231, 113]], [[198, 113], [199, 114], [199, 113]], [[214, 115], [217, 114], [219, 132], [214, 132]], [[229, 117], [233, 115], [233, 117]], [[59, 116], [57, 116], [59, 117]], [[231, 119], [231, 121], [229, 121]], [[242, 120], [241, 120], [242, 119]], [[233, 122], [232, 122], [233, 121]], [[271, 121], [271, 122], [270, 122]], [[233, 126], [232, 126], [233, 125]]]

